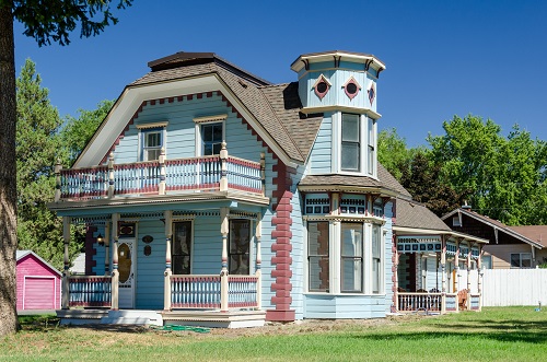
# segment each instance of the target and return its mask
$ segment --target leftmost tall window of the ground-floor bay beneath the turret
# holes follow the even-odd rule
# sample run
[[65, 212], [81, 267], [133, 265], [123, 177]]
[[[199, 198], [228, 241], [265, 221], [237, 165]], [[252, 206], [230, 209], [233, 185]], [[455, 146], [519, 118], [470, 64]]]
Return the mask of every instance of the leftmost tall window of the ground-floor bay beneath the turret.
[[307, 223], [307, 266], [311, 292], [328, 292], [328, 222]]

